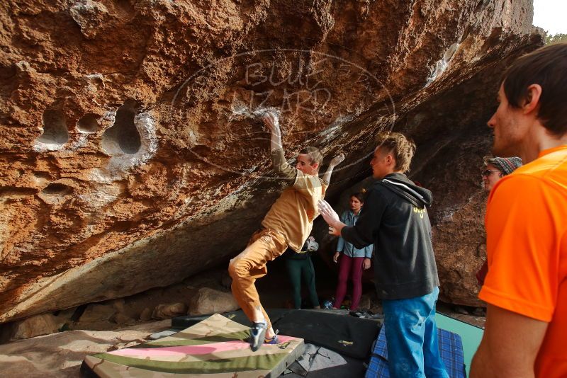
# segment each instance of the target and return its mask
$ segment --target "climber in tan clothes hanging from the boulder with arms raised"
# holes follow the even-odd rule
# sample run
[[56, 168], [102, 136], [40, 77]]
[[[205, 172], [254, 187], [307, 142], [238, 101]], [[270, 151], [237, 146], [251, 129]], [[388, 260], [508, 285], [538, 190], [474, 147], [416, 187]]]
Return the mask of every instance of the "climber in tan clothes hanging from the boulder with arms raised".
[[342, 154], [335, 156], [322, 178], [319, 178], [323, 156], [319, 149], [306, 147], [299, 152], [295, 167], [290, 166], [283, 155], [278, 115], [269, 111], [264, 113], [262, 120], [271, 132], [270, 152], [274, 171], [289, 186], [271, 205], [262, 227], [252, 235], [246, 249], [230, 260], [228, 266], [232, 277], [232, 294], [253, 323], [250, 347], [254, 351], [263, 343], [278, 343], [254, 282], [266, 275], [266, 262], [274, 260], [287, 248], [301, 251], [313, 228], [313, 219], [319, 215], [317, 204], [325, 197], [332, 170], [344, 160]]

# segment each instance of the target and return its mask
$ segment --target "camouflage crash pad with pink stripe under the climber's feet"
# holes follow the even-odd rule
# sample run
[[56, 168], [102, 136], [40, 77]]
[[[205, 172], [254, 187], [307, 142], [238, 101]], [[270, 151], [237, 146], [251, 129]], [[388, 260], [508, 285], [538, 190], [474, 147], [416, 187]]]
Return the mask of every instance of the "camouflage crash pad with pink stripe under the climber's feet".
[[[86, 377], [278, 377], [303, 353], [303, 340], [249, 348], [249, 328], [215, 314], [172, 336], [84, 358]], [[235, 374], [236, 373], [236, 374]]]

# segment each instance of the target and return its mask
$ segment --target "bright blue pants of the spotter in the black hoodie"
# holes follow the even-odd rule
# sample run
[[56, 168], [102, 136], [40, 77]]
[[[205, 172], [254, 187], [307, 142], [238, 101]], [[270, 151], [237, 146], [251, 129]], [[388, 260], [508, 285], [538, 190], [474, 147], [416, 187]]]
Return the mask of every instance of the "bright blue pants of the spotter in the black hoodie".
[[423, 297], [383, 299], [391, 378], [449, 378], [439, 355], [435, 304], [439, 287]]

